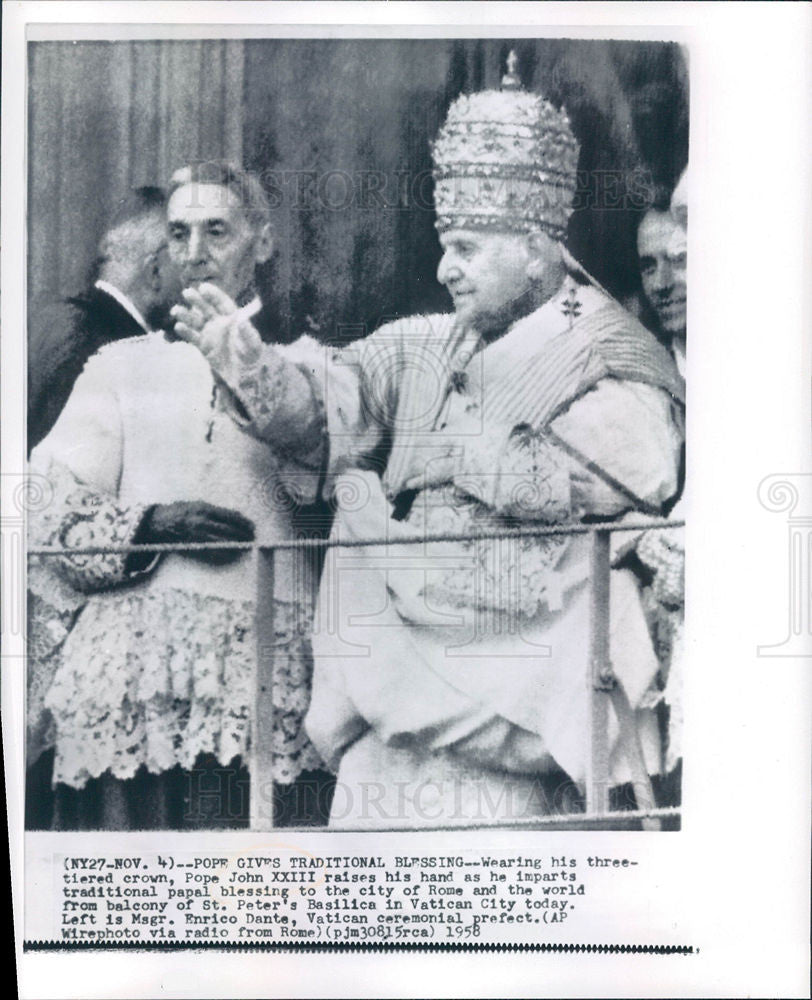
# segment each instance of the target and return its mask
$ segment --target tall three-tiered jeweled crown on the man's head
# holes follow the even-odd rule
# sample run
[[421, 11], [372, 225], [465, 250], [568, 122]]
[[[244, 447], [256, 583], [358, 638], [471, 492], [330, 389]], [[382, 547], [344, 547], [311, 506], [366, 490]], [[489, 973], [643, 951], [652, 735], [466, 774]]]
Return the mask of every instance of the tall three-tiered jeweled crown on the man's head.
[[449, 108], [432, 147], [437, 229], [542, 229], [563, 239], [579, 152], [569, 118], [539, 94], [504, 88]]

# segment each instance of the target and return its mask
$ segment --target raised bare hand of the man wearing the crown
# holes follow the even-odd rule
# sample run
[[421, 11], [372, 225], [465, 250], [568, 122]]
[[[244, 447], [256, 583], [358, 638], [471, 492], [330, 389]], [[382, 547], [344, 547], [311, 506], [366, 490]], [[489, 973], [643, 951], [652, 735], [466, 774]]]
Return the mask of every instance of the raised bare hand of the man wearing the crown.
[[222, 289], [204, 283], [182, 294], [185, 305], [172, 307], [175, 333], [194, 344], [215, 371], [257, 360], [262, 339], [247, 314]]

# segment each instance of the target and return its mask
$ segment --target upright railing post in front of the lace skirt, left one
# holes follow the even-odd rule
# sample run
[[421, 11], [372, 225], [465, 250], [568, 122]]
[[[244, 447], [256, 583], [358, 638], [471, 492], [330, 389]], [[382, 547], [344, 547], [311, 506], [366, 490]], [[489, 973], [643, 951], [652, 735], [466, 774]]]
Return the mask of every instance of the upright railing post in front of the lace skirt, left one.
[[256, 671], [251, 713], [251, 829], [273, 829], [274, 550], [257, 549]]

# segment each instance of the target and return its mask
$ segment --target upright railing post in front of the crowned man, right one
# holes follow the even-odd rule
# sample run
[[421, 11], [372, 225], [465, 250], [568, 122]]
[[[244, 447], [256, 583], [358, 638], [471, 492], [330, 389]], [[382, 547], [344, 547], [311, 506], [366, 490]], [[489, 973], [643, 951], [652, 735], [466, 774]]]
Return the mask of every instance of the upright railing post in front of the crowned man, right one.
[[592, 534], [589, 665], [585, 678], [590, 704], [586, 755], [586, 811], [609, 808], [609, 532]]

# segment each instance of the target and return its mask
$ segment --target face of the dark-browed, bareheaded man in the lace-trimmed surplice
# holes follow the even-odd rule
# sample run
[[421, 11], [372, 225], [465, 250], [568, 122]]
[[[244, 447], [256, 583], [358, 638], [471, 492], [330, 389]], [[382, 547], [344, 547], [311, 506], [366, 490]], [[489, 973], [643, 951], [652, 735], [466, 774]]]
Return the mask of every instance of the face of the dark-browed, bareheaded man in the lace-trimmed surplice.
[[169, 254], [184, 287], [209, 281], [237, 299], [266, 260], [263, 239], [236, 192], [220, 184], [184, 184], [167, 206]]

